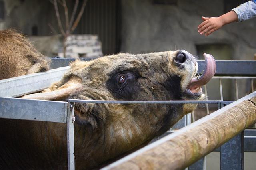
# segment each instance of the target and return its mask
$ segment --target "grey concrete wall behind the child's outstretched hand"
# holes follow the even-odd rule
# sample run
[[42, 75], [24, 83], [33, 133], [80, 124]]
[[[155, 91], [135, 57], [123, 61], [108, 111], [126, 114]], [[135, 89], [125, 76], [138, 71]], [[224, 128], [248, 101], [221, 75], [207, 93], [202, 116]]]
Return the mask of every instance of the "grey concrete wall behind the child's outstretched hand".
[[223, 13], [223, 0], [178, 0], [177, 6], [153, 4], [153, 0], [122, 0], [121, 50], [147, 53], [185, 49], [197, 55], [196, 45], [221, 43], [231, 46], [231, 59], [253, 59], [256, 18], [226, 25], [207, 37], [198, 34], [201, 16]]

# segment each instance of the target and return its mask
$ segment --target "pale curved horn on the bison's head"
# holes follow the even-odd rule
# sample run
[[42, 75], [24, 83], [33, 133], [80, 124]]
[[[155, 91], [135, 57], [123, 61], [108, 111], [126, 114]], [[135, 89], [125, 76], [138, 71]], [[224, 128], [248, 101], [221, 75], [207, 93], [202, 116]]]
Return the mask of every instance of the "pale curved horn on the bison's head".
[[40, 100], [60, 100], [64, 99], [70, 95], [73, 95], [77, 93], [78, 91], [82, 91], [82, 83], [81, 79], [76, 78], [70, 78], [70, 80], [59, 87], [56, 90], [49, 91], [49, 92], [43, 92], [43, 93], [34, 93], [30, 95], [24, 95], [20, 98], [23, 99], [40, 99]]

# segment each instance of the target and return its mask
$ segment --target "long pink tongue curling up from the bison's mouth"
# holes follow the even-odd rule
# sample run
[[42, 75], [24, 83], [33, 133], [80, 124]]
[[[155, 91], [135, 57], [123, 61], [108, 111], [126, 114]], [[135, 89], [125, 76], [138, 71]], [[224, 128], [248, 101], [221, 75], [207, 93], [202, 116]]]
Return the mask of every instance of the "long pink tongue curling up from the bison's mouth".
[[193, 78], [190, 83], [188, 84], [188, 89], [190, 90], [194, 90], [198, 87], [201, 87], [202, 85], [205, 85], [206, 83], [208, 83], [212, 77], [214, 76], [215, 72], [216, 72], [216, 62], [214, 57], [212, 57], [212, 55], [210, 54], [203, 54], [204, 56], [204, 63], [205, 63], [205, 67], [204, 67], [204, 73], [198, 78]]

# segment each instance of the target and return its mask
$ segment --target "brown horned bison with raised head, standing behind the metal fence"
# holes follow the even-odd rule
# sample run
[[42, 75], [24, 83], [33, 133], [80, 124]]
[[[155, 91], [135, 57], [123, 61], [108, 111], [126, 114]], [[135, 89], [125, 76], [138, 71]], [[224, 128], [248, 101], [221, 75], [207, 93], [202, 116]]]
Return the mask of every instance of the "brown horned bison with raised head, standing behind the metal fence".
[[[62, 100], [202, 100], [191, 79], [194, 57], [183, 50], [112, 55], [76, 61], [62, 81], [45, 93], [24, 98]], [[70, 89], [72, 94], [52, 96]], [[73, 88], [74, 87], [74, 88]], [[49, 92], [50, 91], [50, 92]], [[62, 95], [64, 94], [64, 95]], [[94, 169], [145, 146], [166, 132], [194, 104], [75, 103], [76, 169]], [[0, 119], [0, 168], [63, 169], [67, 166], [66, 125]]]

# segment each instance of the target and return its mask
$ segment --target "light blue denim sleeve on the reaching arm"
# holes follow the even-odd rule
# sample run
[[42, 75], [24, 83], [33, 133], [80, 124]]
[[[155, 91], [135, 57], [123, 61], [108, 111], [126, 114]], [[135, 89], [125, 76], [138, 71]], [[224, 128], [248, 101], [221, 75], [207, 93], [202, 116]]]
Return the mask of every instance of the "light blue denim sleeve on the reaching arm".
[[250, 0], [232, 9], [238, 16], [238, 22], [256, 17], [256, 0]]

